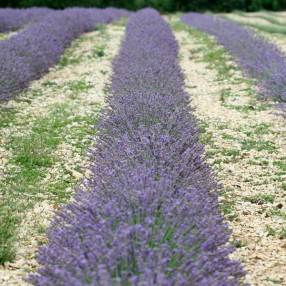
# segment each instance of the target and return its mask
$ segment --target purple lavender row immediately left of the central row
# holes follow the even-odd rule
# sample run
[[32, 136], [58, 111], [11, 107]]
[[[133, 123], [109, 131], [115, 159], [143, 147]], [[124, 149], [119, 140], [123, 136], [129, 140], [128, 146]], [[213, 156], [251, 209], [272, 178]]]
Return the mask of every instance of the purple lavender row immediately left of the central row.
[[0, 42], [0, 101], [13, 98], [46, 73], [80, 34], [125, 15], [128, 13], [111, 8], [55, 11]]

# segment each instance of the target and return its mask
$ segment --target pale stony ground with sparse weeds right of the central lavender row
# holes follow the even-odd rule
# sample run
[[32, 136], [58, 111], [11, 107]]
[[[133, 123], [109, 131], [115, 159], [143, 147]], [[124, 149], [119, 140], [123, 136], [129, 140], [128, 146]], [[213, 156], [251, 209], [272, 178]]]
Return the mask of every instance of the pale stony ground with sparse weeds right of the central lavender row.
[[285, 119], [256, 100], [239, 70], [219, 78], [200, 36], [175, 34], [208, 162], [223, 186], [233, 258], [243, 263], [251, 285], [286, 285]]

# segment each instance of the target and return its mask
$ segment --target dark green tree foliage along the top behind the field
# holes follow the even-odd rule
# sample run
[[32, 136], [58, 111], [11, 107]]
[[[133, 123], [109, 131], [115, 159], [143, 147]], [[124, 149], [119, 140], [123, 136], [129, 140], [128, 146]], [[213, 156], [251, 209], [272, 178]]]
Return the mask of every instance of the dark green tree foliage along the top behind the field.
[[71, 6], [122, 7], [136, 10], [154, 7], [160, 11], [257, 11], [286, 9], [286, 0], [0, 0], [0, 7], [46, 6], [62, 9]]

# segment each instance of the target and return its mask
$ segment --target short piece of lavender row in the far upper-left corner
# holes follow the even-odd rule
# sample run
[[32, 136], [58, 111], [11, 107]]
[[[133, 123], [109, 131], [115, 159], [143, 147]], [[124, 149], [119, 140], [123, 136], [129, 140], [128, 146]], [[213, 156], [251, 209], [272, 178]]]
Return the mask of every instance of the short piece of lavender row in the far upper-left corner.
[[47, 8], [0, 9], [0, 33], [21, 29], [27, 24], [40, 21], [52, 12], [53, 10]]

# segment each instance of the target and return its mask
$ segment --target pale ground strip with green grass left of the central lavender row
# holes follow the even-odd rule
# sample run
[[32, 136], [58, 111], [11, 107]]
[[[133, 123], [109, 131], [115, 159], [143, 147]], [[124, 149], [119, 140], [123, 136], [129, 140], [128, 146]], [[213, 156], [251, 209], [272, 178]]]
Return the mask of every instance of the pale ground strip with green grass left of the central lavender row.
[[[7, 157], [0, 180], [1, 263], [15, 260], [15, 242], [26, 213], [42, 201], [51, 206], [66, 202], [83, 176], [86, 151], [96, 133], [94, 126], [105, 94], [102, 82], [108, 79], [109, 61], [123, 29], [122, 22], [83, 35], [47, 78], [1, 106], [1, 155]], [[87, 50], [90, 42], [96, 44]], [[74, 60], [78, 56], [80, 61]], [[93, 66], [97, 80], [91, 84], [94, 74], [89, 70]]]

